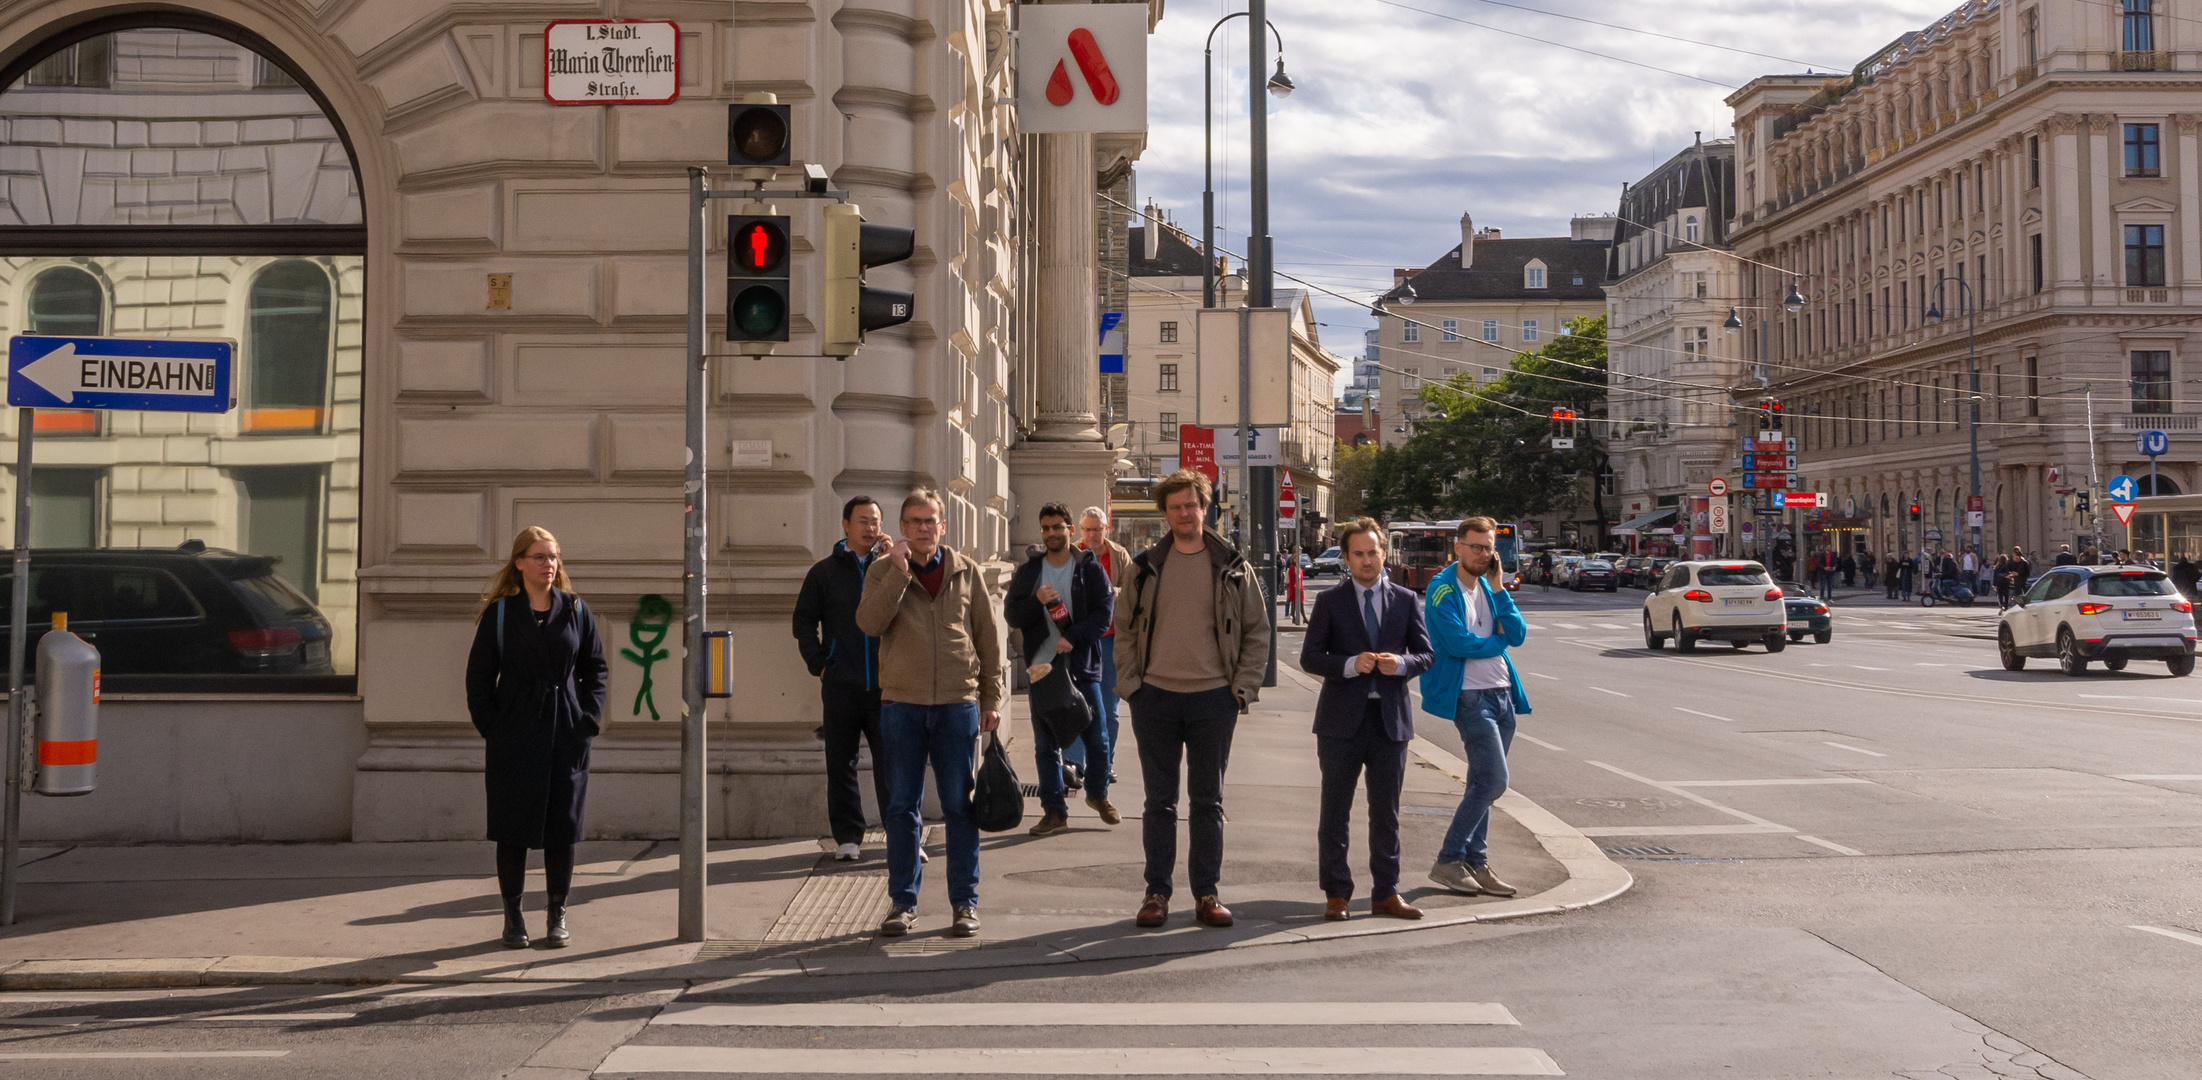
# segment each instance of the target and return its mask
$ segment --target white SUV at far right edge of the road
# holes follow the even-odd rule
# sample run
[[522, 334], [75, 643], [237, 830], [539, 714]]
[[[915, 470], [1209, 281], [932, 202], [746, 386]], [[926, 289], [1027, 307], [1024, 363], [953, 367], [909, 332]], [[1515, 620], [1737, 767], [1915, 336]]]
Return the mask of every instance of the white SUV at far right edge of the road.
[[2013, 672], [2026, 657], [2054, 657], [2065, 674], [2081, 674], [2096, 659], [2114, 672], [2129, 659], [2160, 659], [2171, 674], [2189, 674], [2193, 604], [2158, 569], [2057, 566], [2004, 611], [1995, 648]]

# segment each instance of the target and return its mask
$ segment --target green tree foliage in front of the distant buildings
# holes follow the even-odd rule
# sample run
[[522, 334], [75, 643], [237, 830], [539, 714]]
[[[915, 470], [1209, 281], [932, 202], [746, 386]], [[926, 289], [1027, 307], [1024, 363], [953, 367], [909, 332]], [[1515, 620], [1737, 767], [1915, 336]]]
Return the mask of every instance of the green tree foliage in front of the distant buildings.
[[[1405, 445], [1367, 467], [1365, 514], [1383, 518], [1522, 520], [1583, 503], [1599, 509], [1605, 445], [1590, 417], [1605, 412], [1605, 317], [1568, 320], [1568, 333], [1513, 370], [1475, 386], [1469, 372], [1422, 388], [1422, 421]], [[1555, 452], [1552, 410], [1574, 410], [1574, 450]]]

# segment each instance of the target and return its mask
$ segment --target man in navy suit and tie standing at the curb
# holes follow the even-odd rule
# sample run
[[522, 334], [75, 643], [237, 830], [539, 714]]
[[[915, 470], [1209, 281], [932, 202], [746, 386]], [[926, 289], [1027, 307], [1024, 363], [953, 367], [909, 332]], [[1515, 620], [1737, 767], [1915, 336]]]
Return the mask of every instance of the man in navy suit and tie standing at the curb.
[[1299, 670], [1323, 679], [1315, 703], [1315, 756], [1323, 767], [1317, 857], [1328, 904], [1323, 919], [1343, 921], [1354, 895], [1345, 844], [1354, 787], [1367, 771], [1370, 910], [1394, 919], [1422, 912], [1398, 897], [1398, 791], [1414, 741], [1407, 679], [1429, 670], [1429, 630], [1420, 600], [1383, 573], [1383, 527], [1359, 518], [1339, 533], [1352, 580], [1323, 591], [1299, 648]]

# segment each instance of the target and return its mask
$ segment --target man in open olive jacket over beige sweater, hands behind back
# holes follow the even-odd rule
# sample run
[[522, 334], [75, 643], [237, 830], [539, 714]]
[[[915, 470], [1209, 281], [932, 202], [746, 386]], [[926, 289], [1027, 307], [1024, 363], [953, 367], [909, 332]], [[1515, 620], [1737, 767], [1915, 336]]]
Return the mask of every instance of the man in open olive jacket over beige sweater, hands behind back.
[[1154, 485], [1169, 536], [1132, 560], [1116, 597], [1116, 692], [1132, 705], [1138, 767], [1147, 785], [1141, 842], [1147, 897], [1134, 917], [1169, 921], [1178, 864], [1178, 763], [1191, 800], [1185, 875], [1193, 921], [1231, 926], [1216, 895], [1224, 864], [1224, 765], [1238, 716], [1262, 692], [1268, 666], [1268, 597], [1246, 562], [1207, 529], [1209, 478], [1178, 469]]

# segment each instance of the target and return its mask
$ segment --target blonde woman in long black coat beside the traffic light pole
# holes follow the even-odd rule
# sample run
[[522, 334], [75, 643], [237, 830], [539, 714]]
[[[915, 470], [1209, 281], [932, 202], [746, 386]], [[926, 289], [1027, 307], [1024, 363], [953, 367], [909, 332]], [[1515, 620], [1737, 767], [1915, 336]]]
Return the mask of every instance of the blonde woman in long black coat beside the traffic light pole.
[[546, 948], [566, 948], [573, 844], [588, 796], [588, 741], [603, 716], [603, 644], [597, 617], [566, 582], [557, 538], [526, 527], [489, 580], [467, 655], [467, 712], [487, 743], [482, 785], [498, 842], [504, 948], [528, 948], [520, 919], [528, 849], [544, 851], [550, 912]]

